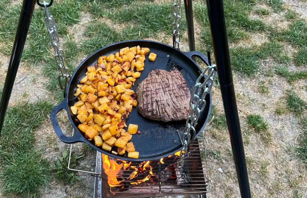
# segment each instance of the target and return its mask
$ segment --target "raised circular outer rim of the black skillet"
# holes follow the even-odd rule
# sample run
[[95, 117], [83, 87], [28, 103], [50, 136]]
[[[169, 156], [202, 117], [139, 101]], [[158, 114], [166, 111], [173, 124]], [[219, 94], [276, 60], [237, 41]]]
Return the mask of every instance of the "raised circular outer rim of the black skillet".
[[[111, 47], [113, 45], [118, 45], [118, 44], [122, 44], [122, 43], [128, 43], [128, 42], [148, 42], [148, 43], [156, 43], [156, 44], [159, 44], [159, 45], [164, 45], [166, 47], [169, 47], [169, 48], [172, 48], [173, 50], [175, 48], [173, 48], [172, 46], [170, 45], [167, 45], [167, 44], [164, 44], [164, 43], [160, 43], [160, 42], [157, 42], [157, 41], [150, 41], [150, 40], [129, 40], [129, 41], [120, 41], [120, 42], [117, 42], [117, 43], [112, 43], [111, 45], [107, 45], [101, 49], [98, 49], [96, 50], [95, 52], [93, 52], [92, 54], [88, 55], [79, 65], [78, 67], [75, 69], [75, 71], [73, 72], [70, 80], [69, 80], [69, 83], [67, 85], [67, 89], [66, 89], [66, 97], [65, 97], [65, 106], [67, 107], [67, 109], [69, 109], [69, 105], [68, 105], [68, 92], [69, 92], [69, 89], [70, 89], [70, 85], [72, 83], [72, 80], [74, 78], [74, 76], [76, 75], [77, 71], [83, 66], [83, 64], [90, 58], [92, 57], [93, 55], [95, 55], [96, 53], [102, 51], [103, 49], [106, 49], [108, 47]], [[202, 72], [203, 70], [199, 67], [198, 64], [196, 64], [189, 56], [187, 56], [186, 53], [178, 50], [178, 49], [175, 49], [176, 51], [178, 51], [181, 55], [184, 55], [186, 56], [189, 60], [191, 60], [191, 62]], [[210, 113], [211, 113], [211, 106], [212, 106], [212, 95], [211, 95], [211, 91], [209, 92], [209, 99], [210, 99], [210, 104], [209, 104], [209, 110], [208, 110], [208, 114], [207, 114], [207, 117], [206, 117], [206, 120], [203, 124], [203, 126], [200, 128], [200, 130], [198, 131], [198, 133], [196, 134], [195, 136], [195, 139], [203, 132], [205, 126], [207, 125], [207, 122], [209, 120], [209, 117], [210, 117]], [[95, 150], [99, 151], [100, 153], [103, 153], [105, 155], [108, 155], [110, 157], [114, 157], [116, 159], [120, 159], [120, 160], [129, 160], [129, 161], [155, 161], [155, 160], [160, 160], [161, 158], [164, 158], [164, 157], [167, 157], [169, 155], [173, 155], [174, 153], [178, 152], [181, 150], [181, 148], [177, 149], [174, 153], [167, 153], [167, 154], [164, 154], [164, 155], [161, 155], [159, 157], [147, 157], [147, 158], [138, 158], [138, 159], [134, 159], [134, 158], [128, 158], [128, 157], [121, 157], [119, 155], [115, 155], [115, 154], [111, 154], [111, 153], [108, 153], [106, 151], [104, 151], [103, 149], [99, 148], [99, 147], [96, 147], [95, 145], [93, 145], [91, 142], [89, 142], [89, 140], [87, 140], [81, 133], [80, 131], [78, 130], [77, 126], [75, 125], [75, 123], [73, 122], [73, 119], [69, 113], [69, 111], [67, 111], [67, 115], [68, 115], [68, 118], [69, 118], [69, 121], [71, 123], [71, 125], [73, 126], [73, 128], [75, 129], [75, 133], [79, 133], [79, 136], [81, 137], [80, 138], [80, 142], [84, 142], [86, 144], [88, 144], [89, 146], [91, 146], [92, 148], [94, 148]]]

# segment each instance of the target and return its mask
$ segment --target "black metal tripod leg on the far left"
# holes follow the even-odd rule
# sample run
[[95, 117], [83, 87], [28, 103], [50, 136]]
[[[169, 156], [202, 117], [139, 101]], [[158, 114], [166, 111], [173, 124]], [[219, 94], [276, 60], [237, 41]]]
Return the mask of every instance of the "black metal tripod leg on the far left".
[[7, 69], [2, 98], [0, 102], [0, 134], [3, 127], [6, 109], [9, 104], [10, 96], [12, 93], [15, 77], [18, 71], [18, 66], [22, 56], [22, 51], [25, 46], [26, 37], [34, 11], [34, 6], [35, 0], [24, 0], [22, 3], [22, 10], [19, 16], [13, 50], [10, 58], [9, 67]]

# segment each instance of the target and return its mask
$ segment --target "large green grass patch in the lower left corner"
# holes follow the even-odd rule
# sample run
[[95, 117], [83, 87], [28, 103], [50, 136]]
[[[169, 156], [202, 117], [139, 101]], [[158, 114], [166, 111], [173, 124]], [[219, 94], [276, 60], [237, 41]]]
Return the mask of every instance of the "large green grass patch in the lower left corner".
[[34, 196], [48, 181], [49, 163], [34, 146], [33, 130], [52, 108], [52, 104], [39, 101], [8, 109], [0, 136], [0, 188], [4, 193]]

